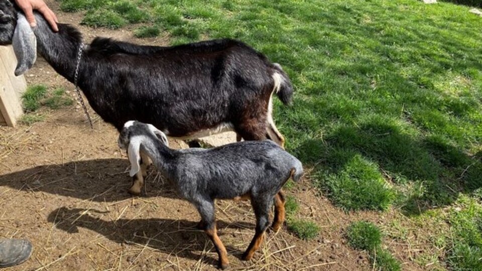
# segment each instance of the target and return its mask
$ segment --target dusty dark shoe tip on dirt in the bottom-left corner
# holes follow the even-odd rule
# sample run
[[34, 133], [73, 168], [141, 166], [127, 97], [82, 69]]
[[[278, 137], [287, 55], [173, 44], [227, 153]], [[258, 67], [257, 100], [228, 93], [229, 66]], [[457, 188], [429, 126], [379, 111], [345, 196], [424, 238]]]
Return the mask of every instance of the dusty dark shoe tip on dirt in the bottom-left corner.
[[0, 268], [26, 261], [32, 254], [32, 244], [23, 239], [0, 239]]

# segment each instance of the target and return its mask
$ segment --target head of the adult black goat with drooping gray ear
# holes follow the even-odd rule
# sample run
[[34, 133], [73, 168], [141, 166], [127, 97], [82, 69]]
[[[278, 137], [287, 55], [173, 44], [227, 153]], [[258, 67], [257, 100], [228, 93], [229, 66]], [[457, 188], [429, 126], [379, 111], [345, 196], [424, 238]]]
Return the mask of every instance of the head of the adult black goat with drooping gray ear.
[[15, 75], [30, 69], [37, 59], [37, 39], [25, 16], [18, 12], [10, 0], [0, 2], [0, 45], [14, 46], [17, 57]]

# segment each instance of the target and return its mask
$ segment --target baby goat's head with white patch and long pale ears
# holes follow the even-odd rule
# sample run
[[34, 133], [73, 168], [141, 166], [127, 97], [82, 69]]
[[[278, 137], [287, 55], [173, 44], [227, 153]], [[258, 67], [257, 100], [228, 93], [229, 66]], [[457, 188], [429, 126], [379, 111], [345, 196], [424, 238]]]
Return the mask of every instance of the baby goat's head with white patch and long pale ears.
[[[131, 162], [131, 171], [129, 172], [131, 177], [141, 170], [141, 144], [146, 144], [152, 138], [157, 138], [162, 144], [169, 146], [166, 134], [152, 124], [146, 124], [135, 120], [130, 120], [124, 124], [124, 128], [119, 134], [117, 144], [121, 149], [127, 150], [129, 162]], [[151, 154], [147, 155], [151, 156]]]

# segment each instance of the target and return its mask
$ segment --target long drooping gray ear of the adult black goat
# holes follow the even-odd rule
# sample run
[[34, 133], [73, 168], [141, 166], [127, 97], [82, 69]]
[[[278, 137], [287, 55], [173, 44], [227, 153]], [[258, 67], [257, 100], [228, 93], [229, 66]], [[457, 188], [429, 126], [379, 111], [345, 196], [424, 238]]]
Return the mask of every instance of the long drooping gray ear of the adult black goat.
[[15, 75], [19, 76], [32, 68], [37, 59], [37, 39], [25, 16], [18, 13], [17, 17], [12, 45], [18, 61]]

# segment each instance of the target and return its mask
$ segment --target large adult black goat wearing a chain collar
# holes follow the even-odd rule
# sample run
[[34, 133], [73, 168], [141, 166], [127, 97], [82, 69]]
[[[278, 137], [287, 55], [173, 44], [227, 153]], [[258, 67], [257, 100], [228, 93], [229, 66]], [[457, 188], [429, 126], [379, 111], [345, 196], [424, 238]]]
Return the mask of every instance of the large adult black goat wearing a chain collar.
[[[0, 3], [0, 44], [12, 43], [17, 19], [23, 17], [9, 4]], [[38, 51], [73, 82], [81, 34], [64, 24], [53, 33], [40, 14], [35, 17]], [[23, 47], [16, 51], [35, 50], [33, 44], [25, 46], [29, 38], [20, 40]], [[152, 123], [172, 138], [234, 130], [238, 141], [268, 138], [284, 146], [272, 117], [272, 94], [289, 104], [290, 80], [280, 65], [242, 42], [224, 39], [157, 47], [95, 38], [81, 53], [78, 85], [94, 111], [119, 131], [126, 121], [136, 119]], [[33, 61], [19, 59], [19, 67]], [[131, 192], [141, 191], [136, 187]]]

